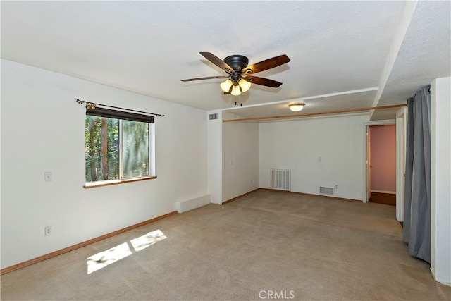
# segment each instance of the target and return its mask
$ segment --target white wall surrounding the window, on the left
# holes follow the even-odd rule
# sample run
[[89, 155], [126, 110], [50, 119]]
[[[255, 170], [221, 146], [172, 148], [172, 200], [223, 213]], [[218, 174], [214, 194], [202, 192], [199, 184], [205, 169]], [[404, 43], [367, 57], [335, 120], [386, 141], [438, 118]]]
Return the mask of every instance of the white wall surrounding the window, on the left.
[[[166, 114], [155, 118], [158, 178], [82, 188], [85, 106], [75, 98]], [[205, 111], [1, 61], [1, 268], [175, 211], [207, 194], [206, 169]]]

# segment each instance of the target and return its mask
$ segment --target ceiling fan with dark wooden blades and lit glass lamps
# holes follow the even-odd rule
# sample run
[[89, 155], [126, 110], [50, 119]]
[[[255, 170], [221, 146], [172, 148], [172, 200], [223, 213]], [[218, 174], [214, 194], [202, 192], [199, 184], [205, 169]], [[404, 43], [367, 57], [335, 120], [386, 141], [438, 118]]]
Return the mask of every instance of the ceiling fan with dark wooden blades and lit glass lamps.
[[219, 68], [226, 71], [228, 75], [221, 76], [208, 76], [206, 78], [189, 78], [182, 80], [183, 82], [190, 82], [192, 80], [211, 80], [213, 78], [228, 78], [225, 82], [221, 83], [221, 89], [224, 94], [240, 95], [241, 92], [246, 92], [251, 87], [251, 83], [256, 85], [262, 85], [266, 87], [280, 87], [282, 82], [276, 80], [270, 80], [268, 78], [257, 78], [252, 74], [278, 67], [284, 63], [288, 63], [290, 58], [283, 54], [281, 56], [275, 56], [271, 59], [266, 59], [259, 63], [247, 66], [249, 59], [246, 56], [234, 54], [227, 56], [226, 59], [221, 60], [218, 56], [211, 54], [210, 52], [199, 52], [205, 59], [211, 61]]

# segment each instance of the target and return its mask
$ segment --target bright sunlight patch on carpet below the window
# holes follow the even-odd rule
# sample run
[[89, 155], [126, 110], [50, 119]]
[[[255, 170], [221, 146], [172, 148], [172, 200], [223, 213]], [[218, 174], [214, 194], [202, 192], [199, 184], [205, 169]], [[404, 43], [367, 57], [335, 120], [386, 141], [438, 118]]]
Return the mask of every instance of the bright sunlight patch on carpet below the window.
[[134, 238], [130, 240], [130, 242], [124, 242], [109, 250], [92, 255], [86, 259], [87, 274], [103, 269], [105, 266], [128, 257], [135, 252], [144, 250], [165, 238], [166, 235], [164, 235], [163, 232], [156, 230], [142, 235], [139, 238]]

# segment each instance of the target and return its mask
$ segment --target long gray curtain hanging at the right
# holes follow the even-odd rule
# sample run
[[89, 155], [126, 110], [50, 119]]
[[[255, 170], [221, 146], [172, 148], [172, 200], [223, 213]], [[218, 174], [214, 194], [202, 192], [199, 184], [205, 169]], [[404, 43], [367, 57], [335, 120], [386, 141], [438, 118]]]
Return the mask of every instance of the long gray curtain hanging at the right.
[[428, 87], [407, 100], [403, 240], [409, 254], [431, 263], [431, 130]]

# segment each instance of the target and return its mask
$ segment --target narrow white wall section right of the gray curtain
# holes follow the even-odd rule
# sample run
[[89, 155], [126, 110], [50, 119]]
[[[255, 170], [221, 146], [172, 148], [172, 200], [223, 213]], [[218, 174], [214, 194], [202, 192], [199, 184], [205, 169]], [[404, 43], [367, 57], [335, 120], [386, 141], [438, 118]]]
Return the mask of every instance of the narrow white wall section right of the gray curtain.
[[451, 78], [431, 83], [431, 271], [451, 285]]

